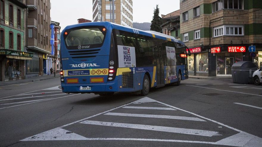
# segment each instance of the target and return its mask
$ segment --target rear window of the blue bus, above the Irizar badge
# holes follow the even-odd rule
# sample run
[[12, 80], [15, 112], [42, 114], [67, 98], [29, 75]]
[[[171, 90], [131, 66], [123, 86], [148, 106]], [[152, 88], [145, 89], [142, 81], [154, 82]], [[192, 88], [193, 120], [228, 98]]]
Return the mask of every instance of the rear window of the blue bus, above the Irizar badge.
[[[104, 31], [103, 31], [104, 30]], [[88, 48], [101, 47], [106, 34], [104, 27], [99, 28], [81, 28], [67, 30], [67, 34], [64, 36], [65, 43], [68, 49], [73, 46], [89, 46]]]

